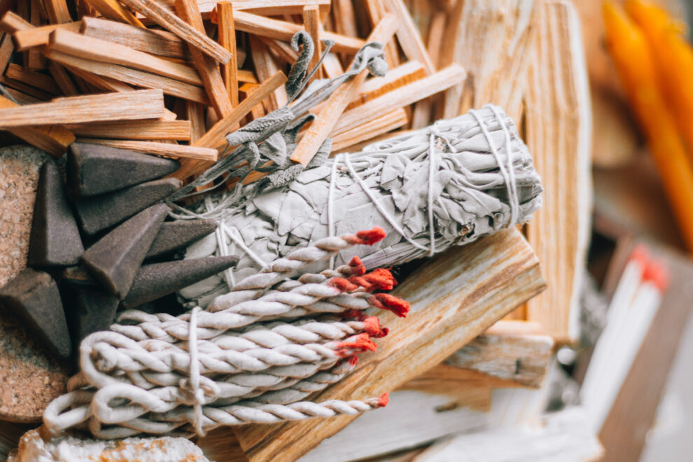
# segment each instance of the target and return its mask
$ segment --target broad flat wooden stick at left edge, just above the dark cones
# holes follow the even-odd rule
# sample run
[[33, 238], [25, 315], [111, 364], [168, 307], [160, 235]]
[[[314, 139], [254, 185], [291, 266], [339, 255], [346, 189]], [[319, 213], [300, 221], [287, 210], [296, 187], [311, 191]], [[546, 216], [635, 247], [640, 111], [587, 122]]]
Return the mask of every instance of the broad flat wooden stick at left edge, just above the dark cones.
[[57, 98], [49, 103], [2, 109], [0, 127], [155, 119], [164, 114], [161, 90], [137, 90]]

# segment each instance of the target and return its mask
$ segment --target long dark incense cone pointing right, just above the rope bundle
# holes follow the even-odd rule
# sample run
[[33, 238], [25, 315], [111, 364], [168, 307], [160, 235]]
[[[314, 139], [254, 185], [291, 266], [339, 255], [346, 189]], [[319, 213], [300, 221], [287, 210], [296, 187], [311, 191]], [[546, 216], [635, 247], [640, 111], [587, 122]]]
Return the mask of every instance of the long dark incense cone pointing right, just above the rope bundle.
[[237, 256], [229, 255], [144, 265], [120, 304], [132, 308], [151, 302], [235, 266], [237, 262]]

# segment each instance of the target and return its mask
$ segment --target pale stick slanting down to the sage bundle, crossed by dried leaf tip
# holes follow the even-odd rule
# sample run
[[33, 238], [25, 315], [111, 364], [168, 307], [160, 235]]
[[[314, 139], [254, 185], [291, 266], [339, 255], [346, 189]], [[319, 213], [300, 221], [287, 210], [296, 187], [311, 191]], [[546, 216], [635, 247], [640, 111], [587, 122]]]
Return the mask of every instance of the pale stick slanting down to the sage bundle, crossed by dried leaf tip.
[[[388, 15], [374, 27], [367, 41], [386, 43], [392, 38], [395, 29], [397, 29], [397, 22], [394, 16]], [[308, 131], [303, 135], [298, 146], [291, 154], [293, 162], [299, 162], [304, 167], [308, 165], [308, 162], [311, 161], [330, 132], [332, 132], [346, 106], [356, 97], [358, 87], [360, 87], [367, 75], [368, 70], [363, 69], [363, 71], [353, 76], [349, 82], [342, 84], [330, 95], [318, 118], [311, 123]]]

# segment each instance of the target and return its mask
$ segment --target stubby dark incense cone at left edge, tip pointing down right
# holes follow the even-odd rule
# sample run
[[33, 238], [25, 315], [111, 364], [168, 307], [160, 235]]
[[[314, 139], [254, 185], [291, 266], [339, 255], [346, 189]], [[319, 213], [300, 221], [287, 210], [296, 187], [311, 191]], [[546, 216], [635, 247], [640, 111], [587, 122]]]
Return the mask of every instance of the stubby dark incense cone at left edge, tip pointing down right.
[[50, 274], [23, 269], [0, 289], [0, 305], [21, 318], [58, 358], [71, 357], [72, 342], [60, 293]]

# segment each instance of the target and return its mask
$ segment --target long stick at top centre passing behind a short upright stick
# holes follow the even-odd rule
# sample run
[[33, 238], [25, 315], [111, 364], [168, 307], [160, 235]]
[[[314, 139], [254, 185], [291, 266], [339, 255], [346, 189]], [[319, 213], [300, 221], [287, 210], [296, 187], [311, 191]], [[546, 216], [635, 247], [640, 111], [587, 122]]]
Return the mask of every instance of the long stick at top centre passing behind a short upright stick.
[[[265, 18], [239, 10], [234, 11], [234, 21], [236, 30], [257, 36], [279, 38], [279, 40], [287, 42], [291, 40], [293, 34], [303, 30], [301, 25], [293, 24], [292, 22]], [[365, 45], [365, 41], [360, 38], [347, 37], [328, 31], [323, 31], [320, 35], [325, 40], [335, 41], [335, 45], [332, 47], [332, 50], [335, 52], [345, 52], [354, 55]]]

